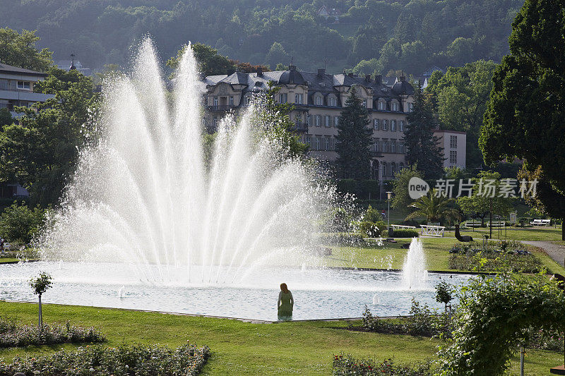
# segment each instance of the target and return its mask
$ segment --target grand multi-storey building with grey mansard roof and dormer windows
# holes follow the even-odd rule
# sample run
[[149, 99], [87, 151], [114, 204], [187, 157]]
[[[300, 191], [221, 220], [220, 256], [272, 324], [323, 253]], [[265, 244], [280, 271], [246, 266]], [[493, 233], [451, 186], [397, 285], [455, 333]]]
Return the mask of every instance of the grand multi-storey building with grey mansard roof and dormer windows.
[[371, 178], [390, 180], [405, 166], [404, 128], [414, 104], [414, 88], [404, 77], [385, 85], [380, 75], [330, 75], [324, 69], [311, 73], [297, 71], [295, 66], [288, 71], [211, 75], [203, 79], [207, 125], [215, 128], [227, 111], [245, 107], [254, 93], [268, 90], [269, 81], [280, 87], [276, 100], [293, 105], [291, 119], [302, 142], [310, 145], [311, 156], [331, 164], [338, 158], [339, 116], [355, 86], [373, 130]]

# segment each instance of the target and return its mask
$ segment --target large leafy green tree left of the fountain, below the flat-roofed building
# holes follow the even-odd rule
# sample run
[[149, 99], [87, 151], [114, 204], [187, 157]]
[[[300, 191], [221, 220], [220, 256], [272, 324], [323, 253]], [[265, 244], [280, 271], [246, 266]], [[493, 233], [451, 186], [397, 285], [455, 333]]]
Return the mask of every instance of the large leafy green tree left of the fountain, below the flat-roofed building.
[[0, 132], [0, 181], [17, 181], [42, 206], [56, 203], [75, 169], [78, 149], [88, 138], [96, 113], [93, 82], [78, 71], [51, 68], [37, 83], [55, 97], [23, 112], [18, 124]]

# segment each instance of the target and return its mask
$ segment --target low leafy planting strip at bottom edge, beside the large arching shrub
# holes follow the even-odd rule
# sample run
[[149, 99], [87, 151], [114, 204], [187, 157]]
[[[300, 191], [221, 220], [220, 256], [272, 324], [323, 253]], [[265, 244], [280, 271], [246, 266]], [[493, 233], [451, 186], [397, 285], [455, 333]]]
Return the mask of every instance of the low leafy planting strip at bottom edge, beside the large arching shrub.
[[386, 360], [356, 359], [341, 353], [333, 356], [333, 375], [427, 376], [434, 375], [434, 372], [431, 361], [415, 365], [397, 365], [392, 358]]

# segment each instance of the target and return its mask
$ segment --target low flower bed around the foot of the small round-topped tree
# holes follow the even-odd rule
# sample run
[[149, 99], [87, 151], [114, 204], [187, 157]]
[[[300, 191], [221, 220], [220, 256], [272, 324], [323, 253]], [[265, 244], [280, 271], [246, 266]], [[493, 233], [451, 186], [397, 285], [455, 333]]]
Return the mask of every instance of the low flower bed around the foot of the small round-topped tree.
[[0, 348], [30, 345], [68, 344], [78, 342], [103, 342], [100, 329], [70, 325], [22, 325], [0, 317]]

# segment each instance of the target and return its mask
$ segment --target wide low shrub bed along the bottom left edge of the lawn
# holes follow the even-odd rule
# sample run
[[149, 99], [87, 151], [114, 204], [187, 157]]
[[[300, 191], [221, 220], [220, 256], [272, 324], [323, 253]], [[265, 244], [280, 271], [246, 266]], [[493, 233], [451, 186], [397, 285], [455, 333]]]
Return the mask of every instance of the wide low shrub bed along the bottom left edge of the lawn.
[[47, 356], [0, 360], [0, 375], [198, 375], [210, 354], [207, 346], [186, 344], [174, 350], [157, 346], [79, 347]]

